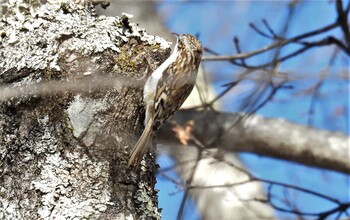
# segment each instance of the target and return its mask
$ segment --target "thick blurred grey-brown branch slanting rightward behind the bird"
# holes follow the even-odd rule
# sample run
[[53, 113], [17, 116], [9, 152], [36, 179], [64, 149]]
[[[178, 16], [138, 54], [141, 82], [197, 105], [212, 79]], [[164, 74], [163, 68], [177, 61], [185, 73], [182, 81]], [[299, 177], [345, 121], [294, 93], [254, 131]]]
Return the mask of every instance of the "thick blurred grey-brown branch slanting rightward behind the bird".
[[[339, 132], [297, 125], [283, 119], [214, 111], [185, 110], [178, 112], [173, 120], [180, 125], [193, 120], [193, 136], [208, 149], [251, 152], [350, 173], [350, 139]], [[172, 132], [174, 122], [160, 130], [159, 143], [179, 143]]]

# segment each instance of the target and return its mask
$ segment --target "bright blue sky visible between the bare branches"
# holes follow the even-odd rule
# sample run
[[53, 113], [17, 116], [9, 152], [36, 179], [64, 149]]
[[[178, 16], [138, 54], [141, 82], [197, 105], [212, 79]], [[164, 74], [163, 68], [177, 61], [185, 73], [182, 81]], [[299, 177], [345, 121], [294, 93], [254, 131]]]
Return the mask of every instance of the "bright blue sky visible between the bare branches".
[[[204, 46], [220, 54], [229, 55], [235, 53], [232, 43], [233, 36], [240, 39], [242, 50], [246, 52], [271, 44], [270, 39], [257, 36], [256, 32], [249, 28], [249, 23], [262, 27], [261, 19], [266, 19], [270, 26], [278, 32], [286, 19], [287, 3], [287, 1], [162, 1], [158, 2], [157, 10], [172, 32], [198, 34]], [[295, 13], [288, 27], [287, 36], [289, 37], [323, 27], [336, 19], [332, 1], [305, 1], [295, 8]], [[329, 34], [341, 36], [339, 30], [334, 30], [320, 37]], [[317, 39], [319, 38], [309, 40]], [[293, 49], [295, 46], [288, 46], [282, 51], [282, 54]], [[331, 46], [320, 50], [315, 49], [284, 62], [279, 70], [295, 76], [296, 80], [290, 83], [294, 89], [278, 92], [269, 104], [259, 110], [258, 114], [267, 117], [282, 117], [307, 125], [310, 121], [308, 111], [311, 96], [306, 89], [314, 85], [319, 79], [320, 72], [327, 68], [333, 51], [334, 47]], [[250, 59], [249, 62], [251, 64], [261, 63], [269, 59], [271, 55], [271, 53], [266, 53]], [[212, 78], [217, 79], [214, 87], [218, 92], [222, 89], [222, 84], [229, 82], [229, 79], [241, 70], [225, 62], [205, 62], [204, 67], [213, 74]], [[329, 68], [327, 81], [320, 89], [320, 98], [311, 116], [312, 126], [349, 134], [349, 82], [340, 77], [340, 72], [346, 72], [348, 68], [349, 59], [342, 53], [337, 57], [334, 65]], [[224, 101], [226, 103], [223, 106], [224, 111], [237, 110], [238, 100], [228, 96]], [[343, 174], [248, 153], [240, 154], [240, 158], [256, 176], [313, 189], [341, 201], [350, 200], [349, 177]], [[159, 163], [164, 167], [171, 162], [167, 157], [160, 157]], [[157, 188], [161, 189], [159, 202], [160, 207], [164, 208], [163, 218], [175, 219], [182, 193], [178, 192], [176, 186], [162, 178], [158, 179]], [[282, 191], [278, 188], [274, 192], [282, 195]], [[295, 203], [303, 211], [317, 212], [334, 208], [334, 204], [320, 198], [298, 194], [298, 192], [293, 193], [297, 193]], [[198, 218], [193, 204], [189, 205], [187, 210], [189, 211], [186, 212], [185, 219]], [[280, 218], [293, 217], [283, 213], [277, 214]]]

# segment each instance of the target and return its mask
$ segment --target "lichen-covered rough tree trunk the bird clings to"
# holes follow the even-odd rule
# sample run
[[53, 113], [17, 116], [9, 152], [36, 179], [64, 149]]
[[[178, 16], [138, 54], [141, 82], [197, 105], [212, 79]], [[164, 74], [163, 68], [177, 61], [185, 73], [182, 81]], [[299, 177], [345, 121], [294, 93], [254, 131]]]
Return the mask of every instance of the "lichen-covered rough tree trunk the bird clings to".
[[127, 160], [139, 79], [168, 43], [85, 1], [32, 2], [9, 1], [0, 22], [0, 218], [159, 218], [154, 154]]

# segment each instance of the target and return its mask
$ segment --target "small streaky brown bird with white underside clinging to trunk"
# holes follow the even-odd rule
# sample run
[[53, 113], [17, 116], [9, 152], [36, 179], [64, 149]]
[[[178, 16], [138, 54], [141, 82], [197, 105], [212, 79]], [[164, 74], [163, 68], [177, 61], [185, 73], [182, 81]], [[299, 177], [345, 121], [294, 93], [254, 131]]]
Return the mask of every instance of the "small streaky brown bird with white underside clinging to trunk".
[[153, 132], [181, 107], [191, 93], [201, 58], [200, 41], [189, 34], [178, 35], [173, 53], [149, 76], [143, 89], [145, 129], [131, 151], [129, 166], [140, 163]]

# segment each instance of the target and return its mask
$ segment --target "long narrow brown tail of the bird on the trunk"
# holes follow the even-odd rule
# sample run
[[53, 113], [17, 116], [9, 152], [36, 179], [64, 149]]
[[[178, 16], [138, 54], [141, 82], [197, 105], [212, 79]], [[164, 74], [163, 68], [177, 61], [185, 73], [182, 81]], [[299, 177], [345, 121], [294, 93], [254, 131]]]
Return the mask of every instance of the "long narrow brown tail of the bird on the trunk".
[[134, 145], [130, 153], [130, 158], [128, 166], [138, 166], [142, 160], [143, 155], [145, 155], [148, 144], [152, 138], [153, 134], [153, 123], [147, 123], [145, 129], [142, 132], [141, 137]]

